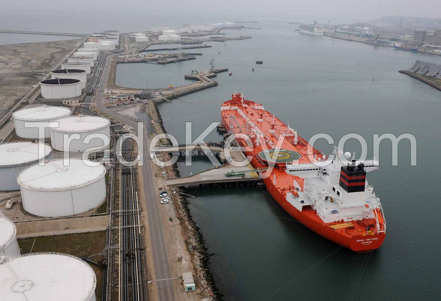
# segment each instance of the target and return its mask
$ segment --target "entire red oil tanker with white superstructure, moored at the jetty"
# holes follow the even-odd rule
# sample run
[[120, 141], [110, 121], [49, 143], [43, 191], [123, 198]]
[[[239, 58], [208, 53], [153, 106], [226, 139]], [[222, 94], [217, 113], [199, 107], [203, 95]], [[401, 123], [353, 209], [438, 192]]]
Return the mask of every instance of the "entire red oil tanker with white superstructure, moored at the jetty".
[[[233, 93], [221, 106], [222, 124], [266, 169], [263, 182], [274, 200], [305, 227], [341, 246], [363, 253], [377, 249], [386, 236], [380, 199], [366, 181], [376, 159], [363, 162], [335, 148], [323, 155], [260, 104]], [[248, 143], [246, 138], [249, 138]]]

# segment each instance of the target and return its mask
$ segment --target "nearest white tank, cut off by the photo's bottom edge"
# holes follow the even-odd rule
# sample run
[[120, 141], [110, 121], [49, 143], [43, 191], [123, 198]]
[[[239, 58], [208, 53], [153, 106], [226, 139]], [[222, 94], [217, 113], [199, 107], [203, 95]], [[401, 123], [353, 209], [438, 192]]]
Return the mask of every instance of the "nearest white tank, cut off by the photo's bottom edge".
[[97, 277], [84, 260], [61, 253], [0, 259], [2, 301], [95, 301]]

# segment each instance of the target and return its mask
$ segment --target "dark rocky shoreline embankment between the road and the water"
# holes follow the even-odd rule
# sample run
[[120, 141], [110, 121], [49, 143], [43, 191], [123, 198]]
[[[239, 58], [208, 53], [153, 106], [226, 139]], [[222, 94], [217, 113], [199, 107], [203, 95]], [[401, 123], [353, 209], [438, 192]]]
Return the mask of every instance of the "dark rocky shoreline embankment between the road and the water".
[[[147, 110], [152, 120], [152, 127], [156, 133], [167, 133], [156, 103], [150, 101], [148, 103]], [[171, 142], [168, 139], [162, 139], [160, 140], [160, 143], [163, 145], [171, 145]], [[164, 153], [163, 156], [166, 160], [171, 159], [170, 154], [168, 153]], [[166, 170], [169, 178], [179, 177], [179, 171], [176, 164], [167, 167]], [[213, 278], [213, 274], [210, 272], [208, 267], [210, 255], [206, 253], [207, 248], [205, 247], [204, 238], [199, 231], [199, 227], [196, 226], [196, 222], [192, 218], [187, 198], [179, 194], [179, 192], [183, 192], [183, 190], [176, 188], [176, 194], [174, 194], [178, 200], [178, 202], [175, 204], [176, 211], [182, 230], [185, 233], [185, 244], [193, 249], [193, 252], [190, 252], [190, 255], [195, 266], [196, 278], [199, 282], [199, 287], [203, 294], [207, 296], [206, 298], [209, 298], [209, 300], [221, 301], [223, 300], [223, 296], [219, 292]]]

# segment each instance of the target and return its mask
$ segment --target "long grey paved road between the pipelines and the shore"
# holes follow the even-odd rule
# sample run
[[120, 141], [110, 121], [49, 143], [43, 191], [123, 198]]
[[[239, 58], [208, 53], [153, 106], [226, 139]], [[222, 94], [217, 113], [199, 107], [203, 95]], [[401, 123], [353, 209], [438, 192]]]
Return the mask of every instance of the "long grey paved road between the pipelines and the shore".
[[[107, 77], [109, 75], [109, 66], [112, 55], [109, 55], [106, 60], [106, 64], [103, 66], [102, 78], [100, 82], [100, 88], [98, 88], [96, 102], [97, 107], [103, 113], [112, 116], [121, 120], [124, 124], [135, 128], [135, 133], [137, 133], [137, 123], [131, 119], [128, 119], [115, 111], [109, 110], [103, 106], [103, 94], [105, 83], [107, 82]], [[106, 66], [107, 65], [107, 66]], [[135, 117], [140, 114], [136, 114]], [[142, 114], [145, 116], [145, 114]], [[148, 154], [148, 130], [150, 129], [150, 123], [146, 123], [145, 118], [143, 120], [144, 126], [144, 153]], [[161, 216], [159, 214], [158, 208], [158, 197], [156, 196], [157, 191], [155, 191], [153, 186], [153, 174], [151, 169], [151, 160], [148, 159], [148, 156], [145, 156], [146, 160], [144, 160], [144, 166], [142, 167], [143, 171], [143, 181], [144, 181], [144, 194], [146, 198], [147, 205], [147, 218], [148, 218], [148, 227], [150, 229], [150, 237], [151, 237], [151, 249], [153, 253], [153, 261], [155, 267], [155, 275], [156, 279], [170, 279], [172, 278], [170, 272], [169, 258], [167, 256], [166, 245], [164, 241], [164, 232], [161, 222]], [[174, 275], [176, 276], [176, 275]], [[158, 286], [158, 297], [159, 301], [174, 301], [174, 291], [172, 280], [164, 280], [164, 281], [156, 281], [156, 285]]]

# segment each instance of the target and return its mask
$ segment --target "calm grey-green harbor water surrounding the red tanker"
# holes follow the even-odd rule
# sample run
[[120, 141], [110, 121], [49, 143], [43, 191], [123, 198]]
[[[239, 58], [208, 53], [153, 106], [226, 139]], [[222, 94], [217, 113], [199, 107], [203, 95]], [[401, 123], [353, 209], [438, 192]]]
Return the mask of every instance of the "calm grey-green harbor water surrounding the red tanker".
[[[441, 92], [397, 71], [416, 60], [441, 64], [441, 57], [303, 35], [288, 24], [259, 25], [262, 30], [228, 32], [253, 38], [213, 42], [194, 61], [130, 70], [121, 64], [118, 84], [145, 87], [147, 78], [149, 87], [184, 84], [183, 75], [208, 69], [215, 58], [233, 75], [219, 74], [219, 86], [159, 107], [165, 128], [180, 142], [186, 121], [193, 122], [193, 139], [220, 121], [221, 103], [236, 90], [290, 121], [306, 139], [324, 132], [337, 144], [346, 133], [362, 135], [368, 157], [374, 133], [412, 133], [417, 166], [410, 166], [408, 141], [399, 145], [398, 166], [392, 166], [391, 143], [381, 143], [380, 170], [368, 173], [368, 181], [382, 200], [388, 231], [371, 254], [340, 249], [310, 232], [264, 190], [192, 191], [192, 215], [213, 254], [210, 269], [225, 300], [439, 300]], [[221, 136], [212, 132], [205, 140]], [[352, 140], [344, 151], [359, 149]], [[332, 151], [324, 141], [316, 146]], [[179, 164], [181, 175], [208, 166], [202, 158], [191, 167]]]

